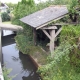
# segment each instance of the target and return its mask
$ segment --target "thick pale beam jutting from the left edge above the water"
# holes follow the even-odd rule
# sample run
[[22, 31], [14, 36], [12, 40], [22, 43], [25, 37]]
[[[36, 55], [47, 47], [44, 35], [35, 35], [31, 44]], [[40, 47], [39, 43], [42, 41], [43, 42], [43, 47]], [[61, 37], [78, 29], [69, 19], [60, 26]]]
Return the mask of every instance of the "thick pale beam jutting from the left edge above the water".
[[21, 26], [12, 25], [12, 24], [3, 24], [3, 23], [0, 23], [0, 28], [1, 30], [12, 30], [12, 31], [23, 30]]

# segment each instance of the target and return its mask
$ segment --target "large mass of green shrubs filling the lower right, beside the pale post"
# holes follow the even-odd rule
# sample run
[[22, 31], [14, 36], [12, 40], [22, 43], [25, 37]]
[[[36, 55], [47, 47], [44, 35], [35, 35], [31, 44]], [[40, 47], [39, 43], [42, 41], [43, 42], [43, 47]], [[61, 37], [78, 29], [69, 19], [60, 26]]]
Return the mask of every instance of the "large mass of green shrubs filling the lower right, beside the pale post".
[[48, 64], [38, 69], [43, 80], [79, 80], [79, 30], [79, 25], [63, 27], [61, 43], [54, 51], [54, 58], [48, 57]]

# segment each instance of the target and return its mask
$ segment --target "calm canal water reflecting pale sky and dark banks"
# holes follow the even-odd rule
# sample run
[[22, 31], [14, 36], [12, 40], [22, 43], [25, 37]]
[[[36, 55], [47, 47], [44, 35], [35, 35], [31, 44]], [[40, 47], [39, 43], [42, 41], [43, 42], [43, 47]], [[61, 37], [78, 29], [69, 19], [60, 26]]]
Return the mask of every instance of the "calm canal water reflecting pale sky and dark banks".
[[13, 36], [7, 35], [2, 38], [3, 61], [7, 68], [11, 68], [10, 76], [15, 76], [13, 80], [40, 80], [36, 73], [36, 67], [28, 55], [22, 54], [16, 49], [16, 43]]

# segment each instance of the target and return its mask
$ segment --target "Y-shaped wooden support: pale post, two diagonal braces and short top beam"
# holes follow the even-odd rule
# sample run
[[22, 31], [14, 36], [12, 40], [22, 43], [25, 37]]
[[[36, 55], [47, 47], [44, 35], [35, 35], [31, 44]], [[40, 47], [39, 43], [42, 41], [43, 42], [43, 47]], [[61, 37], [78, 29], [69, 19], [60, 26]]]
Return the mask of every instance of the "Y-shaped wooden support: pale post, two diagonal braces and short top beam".
[[[50, 27], [43, 27], [41, 28], [42, 31], [45, 33], [45, 35], [50, 39], [50, 52], [51, 52], [51, 56], [54, 56], [53, 52], [54, 52], [54, 48], [55, 48], [55, 38], [58, 36], [58, 34], [61, 32], [62, 27], [59, 28], [59, 30], [57, 32], [55, 32], [55, 30], [57, 29], [56, 26], [50, 26]], [[50, 30], [50, 35], [49, 33], [46, 31], [46, 29]]]

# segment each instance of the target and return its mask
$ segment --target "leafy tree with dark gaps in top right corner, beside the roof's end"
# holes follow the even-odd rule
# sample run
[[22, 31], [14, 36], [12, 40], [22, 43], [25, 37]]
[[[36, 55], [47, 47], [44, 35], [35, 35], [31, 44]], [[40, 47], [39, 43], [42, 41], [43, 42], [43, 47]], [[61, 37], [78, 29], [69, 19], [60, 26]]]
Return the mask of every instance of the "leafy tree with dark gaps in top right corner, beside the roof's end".
[[70, 0], [68, 10], [72, 22], [79, 22], [78, 20], [80, 18], [80, 12], [77, 9], [80, 9], [80, 1]]

